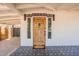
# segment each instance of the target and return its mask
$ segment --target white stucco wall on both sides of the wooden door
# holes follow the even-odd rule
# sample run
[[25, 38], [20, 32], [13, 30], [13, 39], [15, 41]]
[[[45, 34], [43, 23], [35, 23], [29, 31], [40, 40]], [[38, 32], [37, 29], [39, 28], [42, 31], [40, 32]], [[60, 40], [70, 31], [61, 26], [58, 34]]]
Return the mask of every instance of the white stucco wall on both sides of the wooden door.
[[[46, 46], [79, 45], [79, 11], [55, 11], [52, 21], [52, 39]], [[27, 23], [21, 20], [21, 46], [32, 46], [33, 40], [27, 39]]]

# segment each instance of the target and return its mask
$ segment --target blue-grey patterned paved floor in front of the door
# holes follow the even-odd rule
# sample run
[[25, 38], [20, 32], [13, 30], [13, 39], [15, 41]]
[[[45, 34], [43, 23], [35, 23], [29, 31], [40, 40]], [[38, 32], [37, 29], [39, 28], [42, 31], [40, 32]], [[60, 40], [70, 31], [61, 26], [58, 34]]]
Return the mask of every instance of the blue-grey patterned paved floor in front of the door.
[[45, 49], [21, 46], [10, 56], [79, 56], [79, 46], [48, 46]]

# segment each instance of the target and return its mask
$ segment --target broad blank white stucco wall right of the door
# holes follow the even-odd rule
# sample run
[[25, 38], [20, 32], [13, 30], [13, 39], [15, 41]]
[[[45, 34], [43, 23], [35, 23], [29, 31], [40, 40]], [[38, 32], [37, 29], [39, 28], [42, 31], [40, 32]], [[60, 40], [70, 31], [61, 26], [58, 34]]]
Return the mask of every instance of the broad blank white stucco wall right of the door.
[[54, 39], [48, 45], [79, 45], [79, 12], [55, 12]]

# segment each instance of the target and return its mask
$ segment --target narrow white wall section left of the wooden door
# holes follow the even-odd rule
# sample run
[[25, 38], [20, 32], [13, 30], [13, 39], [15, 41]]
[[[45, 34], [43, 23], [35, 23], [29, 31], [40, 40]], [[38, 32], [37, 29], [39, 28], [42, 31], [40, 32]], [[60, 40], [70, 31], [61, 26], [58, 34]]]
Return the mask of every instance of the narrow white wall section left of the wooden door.
[[27, 39], [27, 20], [21, 20], [21, 46], [32, 46], [32, 39]]

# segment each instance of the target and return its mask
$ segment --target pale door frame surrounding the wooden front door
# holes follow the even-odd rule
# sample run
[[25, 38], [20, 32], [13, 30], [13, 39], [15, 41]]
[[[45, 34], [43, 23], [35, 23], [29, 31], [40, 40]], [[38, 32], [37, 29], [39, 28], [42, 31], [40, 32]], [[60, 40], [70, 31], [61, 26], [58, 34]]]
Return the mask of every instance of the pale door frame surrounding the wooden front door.
[[[32, 32], [31, 32], [31, 39], [32, 39], [32, 42], [33, 42], [33, 43], [32, 43], [32, 44], [33, 44], [33, 45], [32, 45], [33, 48], [34, 48], [34, 39], [33, 39], [33, 18], [34, 18], [34, 17], [42, 17], [42, 16], [32, 16], [32, 17], [31, 17], [31, 31], [32, 31]], [[48, 26], [47, 26], [47, 25], [48, 25], [48, 20], [47, 20], [47, 19], [48, 19], [48, 18], [47, 18], [47, 16], [44, 16], [44, 17], [46, 17], [46, 36], [45, 36], [45, 37], [46, 37], [46, 39], [45, 39], [45, 47], [46, 47], [46, 40], [47, 40], [47, 38], [48, 38], [48, 31], [47, 31], [47, 29], [48, 29]]]

